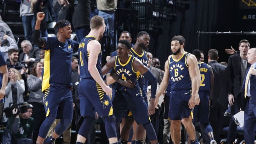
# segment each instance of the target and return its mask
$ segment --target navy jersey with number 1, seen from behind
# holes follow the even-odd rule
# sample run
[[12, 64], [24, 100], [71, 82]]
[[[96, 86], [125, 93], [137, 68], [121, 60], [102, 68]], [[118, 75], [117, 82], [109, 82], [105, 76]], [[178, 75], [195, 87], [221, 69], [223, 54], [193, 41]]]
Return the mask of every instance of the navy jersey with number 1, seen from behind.
[[[92, 36], [86, 36], [82, 41], [80, 42], [78, 54], [79, 54], [79, 66], [80, 66], [80, 78], [84, 79], [92, 79], [92, 76], [90, 72], [88, 71], [88, 59], [90, 57], [90, 53], [87, 51], [87, 44], [91, 40], [97, 40], [95, 37]], [[92, 50], [92, 49], [91, 49]], [[102, 71], [101, 71], [101, 57], [102, 52], [98, 54], [98, 61], [96, 64], [96, 68], [98, 69], [98, 72], [100, 73], [102, 77]]]

